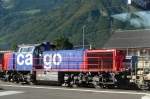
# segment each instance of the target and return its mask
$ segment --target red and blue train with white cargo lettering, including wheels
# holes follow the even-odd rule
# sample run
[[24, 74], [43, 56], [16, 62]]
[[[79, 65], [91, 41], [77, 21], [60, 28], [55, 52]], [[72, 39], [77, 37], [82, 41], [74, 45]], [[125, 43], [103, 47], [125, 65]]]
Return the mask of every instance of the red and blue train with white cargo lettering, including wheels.
[[72, 87], [149, 88], [149, 72], [138, 68], [136, 56], [127, 57], [116, 49], [54, 50], [54, 47], [49, 43], [20, 45], [17, 52], [1, 53], [1, 79], [17, 83], [57, 82]]

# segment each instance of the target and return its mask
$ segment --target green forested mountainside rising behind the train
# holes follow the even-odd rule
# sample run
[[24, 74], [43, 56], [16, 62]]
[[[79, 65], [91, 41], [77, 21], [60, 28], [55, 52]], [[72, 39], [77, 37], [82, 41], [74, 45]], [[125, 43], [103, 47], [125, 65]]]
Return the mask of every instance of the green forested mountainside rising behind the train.
[[[111, 15], [127, 11], [124, 0], [0, 0], [0, 46], [54, 41], [63, 35], [75, 46], [102, 47], [111, 30], [132, 28]], [[113, 22], [113, 24], [112, 24]]]

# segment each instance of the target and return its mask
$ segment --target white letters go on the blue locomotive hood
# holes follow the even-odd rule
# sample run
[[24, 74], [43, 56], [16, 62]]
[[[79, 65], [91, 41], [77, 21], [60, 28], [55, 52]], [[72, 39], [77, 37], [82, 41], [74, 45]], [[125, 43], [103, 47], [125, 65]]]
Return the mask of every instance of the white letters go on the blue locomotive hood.
[[62, 57], [60, 54], [45, 54], [43, 57], [44, 68], [51, 68], [53, 65], [58, 66], [62, 62]]

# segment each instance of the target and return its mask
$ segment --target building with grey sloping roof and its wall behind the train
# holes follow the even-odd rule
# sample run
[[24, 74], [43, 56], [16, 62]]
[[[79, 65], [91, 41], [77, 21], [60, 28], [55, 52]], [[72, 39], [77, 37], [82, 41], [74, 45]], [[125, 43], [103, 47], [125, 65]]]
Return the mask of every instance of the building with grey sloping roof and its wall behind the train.
[[128, 56], [150, 57], [150, 30], [126, 30], [114, 32], [104, 49], [117, 48]]

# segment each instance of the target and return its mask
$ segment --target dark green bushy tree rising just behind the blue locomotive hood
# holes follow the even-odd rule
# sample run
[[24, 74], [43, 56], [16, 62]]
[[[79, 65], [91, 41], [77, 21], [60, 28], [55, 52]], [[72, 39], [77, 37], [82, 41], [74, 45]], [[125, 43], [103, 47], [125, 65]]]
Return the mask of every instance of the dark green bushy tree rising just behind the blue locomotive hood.
[[73, 48], [73, 44], [69, 41], [68, 38], [64, 37], [64, 36], [60, 36], [57, 39], [55, 39], [55, 45], [57, 49], [72, 49]]

